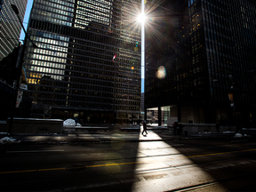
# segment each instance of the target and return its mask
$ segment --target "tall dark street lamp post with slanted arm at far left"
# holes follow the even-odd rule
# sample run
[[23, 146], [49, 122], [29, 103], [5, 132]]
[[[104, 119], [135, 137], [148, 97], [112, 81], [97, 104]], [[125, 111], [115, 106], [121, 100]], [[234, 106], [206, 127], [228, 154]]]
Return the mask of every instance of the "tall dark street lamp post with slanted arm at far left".
[[16, 77], [17, 82], [16, 82], [15, 87], [14, 87], [14, 93], [13, 93], [13, 98], [12, 98], [12, 114], [11, 114], [9, 129], [8, 129], [8, 135], [11, 135], [11, 132], [12, 132], [13, 113], [14, 113], [14, 109], [16, 108], [16, 99], [17, 99], [17, 95], [18, 95], [18, 90], [20, 88], [20, 74], [21, 74], [22, 62], [23, 62], [23, 59], [24, 59], [24, 54], [25, 54], [26, 45], [27, 45], [27, 38], [33, 44], [33, 47], [37, 48], [36, 44], [34, 44], [33, 41], [29, 38], [29, 36], [28, 36], [28, 34], [27, 34], [23, 24], [22, 24], [22, 21], [20, 20], [19, 10], [18, 10], [17, 6], [15, 4], [11, 4], [11, 7], [12, 7], [13, 12], [15, 12], [15, 14], [17, 15], [17, 17], [20, 21], [20, 25], [24, 30], [25, 39], [24, 39], [24, 44], [23, 44], [22, 51], [21, 51], [21, 54], [20, 54], [18, 73], [17, 73], [17, 77]]

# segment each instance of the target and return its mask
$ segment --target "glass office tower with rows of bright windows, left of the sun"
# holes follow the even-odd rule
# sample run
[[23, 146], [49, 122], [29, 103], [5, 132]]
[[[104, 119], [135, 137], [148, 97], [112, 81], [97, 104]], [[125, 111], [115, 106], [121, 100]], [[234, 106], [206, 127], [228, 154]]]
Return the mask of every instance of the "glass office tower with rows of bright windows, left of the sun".
[[133, 1], [34, 0], [28, 33], [39, 48], [29, 46], [26, 60], [31, 116], [139, 120], [139, 11]]

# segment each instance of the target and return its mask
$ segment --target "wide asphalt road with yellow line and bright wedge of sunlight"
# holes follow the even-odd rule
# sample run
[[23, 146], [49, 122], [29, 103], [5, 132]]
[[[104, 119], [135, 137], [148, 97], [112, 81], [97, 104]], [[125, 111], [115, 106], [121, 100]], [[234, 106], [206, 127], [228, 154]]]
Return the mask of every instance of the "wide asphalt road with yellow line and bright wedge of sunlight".
[[1, 191], [256, 191], [253, 140], [12, 144], [0, 148]]

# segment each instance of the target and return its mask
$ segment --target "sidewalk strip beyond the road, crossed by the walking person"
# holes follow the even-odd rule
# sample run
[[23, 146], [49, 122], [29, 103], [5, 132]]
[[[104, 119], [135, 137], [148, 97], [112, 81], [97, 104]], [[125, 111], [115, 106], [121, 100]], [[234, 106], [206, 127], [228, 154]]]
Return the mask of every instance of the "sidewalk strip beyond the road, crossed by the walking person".
[[[0, 140], [10, 137], [7, 133], [0, 133]], [[156, 140], [195, 140], [195, 139], [232, 139], [236, 138], [234, 132], [226, 133], [191, 133], [188, 135], [173, 135], [168, 131], [149, 131], [147, 136], [140, 132], [98, 131], [75, 132], [66, 134], [12, 134], [14, 143], [20, 144], [68, 144], [68, 143], [103, 143], [103, 142], [134, 142]], [[236, 138], [240, 139], [240, 138]]]

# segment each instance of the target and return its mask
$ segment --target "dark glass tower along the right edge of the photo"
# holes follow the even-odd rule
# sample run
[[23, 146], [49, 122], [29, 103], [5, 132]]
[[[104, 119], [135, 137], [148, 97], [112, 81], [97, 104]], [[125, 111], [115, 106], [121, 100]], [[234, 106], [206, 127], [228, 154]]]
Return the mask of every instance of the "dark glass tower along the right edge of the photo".
[[[191, 2], [191, 15], [196, 13], [195, 4]], [[220, 123], [255, 124], [256, 2], [202, 1], [199, 7], [213, 118]]]

